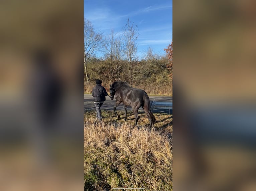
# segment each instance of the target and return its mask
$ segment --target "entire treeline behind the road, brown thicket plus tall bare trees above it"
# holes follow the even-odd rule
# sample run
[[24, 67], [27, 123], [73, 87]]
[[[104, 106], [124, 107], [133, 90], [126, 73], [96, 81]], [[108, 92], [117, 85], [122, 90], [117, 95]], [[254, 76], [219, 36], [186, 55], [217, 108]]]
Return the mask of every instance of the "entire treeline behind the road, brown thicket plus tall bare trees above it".
[[[165, 49], [166, 55], [157, 55], [148, 47], [144, 58], [139, 60], [136, 44], [138, 29], [129, 19], [122, 35], [111, 30], [110, 34], [103, 36], [86, 19], [84, 32], [84, 92], [91, 93], [95, 79], [101, 79], [107, 91], [113, 82], [125, 81], [148, 94], [172, 95], [172, 70], [169, 67], [172, 57], [170, 60], [169, 49]], [[101, 58], [98, 58], [99, 53]]]

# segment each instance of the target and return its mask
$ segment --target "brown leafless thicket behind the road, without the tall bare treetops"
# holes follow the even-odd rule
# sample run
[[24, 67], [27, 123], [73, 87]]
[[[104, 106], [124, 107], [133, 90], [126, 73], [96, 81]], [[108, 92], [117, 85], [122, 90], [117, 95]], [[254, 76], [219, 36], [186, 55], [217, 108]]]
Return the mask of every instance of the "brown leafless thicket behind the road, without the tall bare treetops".
[[88, 64], [90, 81], [85, 80], [85, 92], [90, 93], [95, 85], [95, 79], [101, 79], [105, 88], [109, 88], [109, 85], [115, 81], [125, 81], [148, 94], [172, 95], [167, 63], [166, 58], [132, 62], [132, 76], [130, 76], [127, 72], [127, 61], [111, 64], [109, 60], [92, 59]]

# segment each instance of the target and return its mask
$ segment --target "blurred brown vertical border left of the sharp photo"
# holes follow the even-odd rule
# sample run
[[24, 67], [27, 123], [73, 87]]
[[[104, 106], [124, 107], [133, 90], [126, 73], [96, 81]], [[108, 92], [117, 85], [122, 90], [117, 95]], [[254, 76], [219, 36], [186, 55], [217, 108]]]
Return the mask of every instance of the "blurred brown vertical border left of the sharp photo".
[[0, 2], [0, 190], [83, 189], [83, 5]]

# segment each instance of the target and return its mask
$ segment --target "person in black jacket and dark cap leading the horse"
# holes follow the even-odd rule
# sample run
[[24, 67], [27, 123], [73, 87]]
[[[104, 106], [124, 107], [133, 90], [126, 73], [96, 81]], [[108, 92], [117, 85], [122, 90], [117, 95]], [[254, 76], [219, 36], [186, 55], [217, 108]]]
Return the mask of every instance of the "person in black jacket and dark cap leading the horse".
[[96, 119], [98, 119], [99, 121], [101, 121], [101, 106], [106, 100], [106, 96], [108, 96], [106, 89], [101, 86], [101, 84], [102, 81], [97, 79], [96, 86], [93, 87], [92, 90], [93, 101], [96, 108]]

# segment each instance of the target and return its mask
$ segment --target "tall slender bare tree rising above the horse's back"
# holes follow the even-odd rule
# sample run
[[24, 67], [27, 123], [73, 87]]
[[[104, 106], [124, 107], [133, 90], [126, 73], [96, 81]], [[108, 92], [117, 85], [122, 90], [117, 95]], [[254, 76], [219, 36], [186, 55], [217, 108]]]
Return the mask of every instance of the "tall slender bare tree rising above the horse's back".
[[127, 19], [127, 23], [123, 27], [123, 43], [124, 55], [128, 61], [127, 75], [130, 85], [133, 83], [132, 63], [137, 55], [138, 44], [136, 43], [136, 40], [139, 36], [138, 32], [139, 30], [137, 25], [134, 25], [129, 19]]

